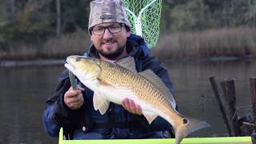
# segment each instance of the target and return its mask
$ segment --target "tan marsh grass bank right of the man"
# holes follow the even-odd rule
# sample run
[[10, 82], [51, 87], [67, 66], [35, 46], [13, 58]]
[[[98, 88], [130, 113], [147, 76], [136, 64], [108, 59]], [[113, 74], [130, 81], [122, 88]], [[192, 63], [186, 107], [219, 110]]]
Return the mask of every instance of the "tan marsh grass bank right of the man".
[[161, 58], [191, 59], [256, 56], [256, 29], [235, 28], [162, 34], [152, 53]]

